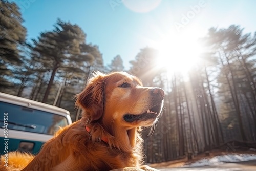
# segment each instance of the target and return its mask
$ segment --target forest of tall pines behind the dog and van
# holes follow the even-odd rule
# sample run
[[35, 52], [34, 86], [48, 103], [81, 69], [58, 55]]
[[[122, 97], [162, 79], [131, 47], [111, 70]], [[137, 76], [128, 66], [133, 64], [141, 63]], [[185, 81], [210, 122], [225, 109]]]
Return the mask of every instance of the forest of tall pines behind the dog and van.
[[75, 121], [81, 111], [73, 97], [94, 71], [126, 71], [166, 94], [154, 132], [143, 131], [146, 163], [234, 141], [255, 148], [256, 33], [239, 25], [209, 28], [199, 39], [205, 47], [201, 62], [184, 75], [157, 66], [158, 50], [151, 47], [141, 47], [125, 70], [120, 55], [105, 65], [99, 47], [88, 44], [76, 24], [58, 19], [53, 30], [28, 40], [23, 22], [15, 3], [0, 1], [0, 92], [59, 106]]

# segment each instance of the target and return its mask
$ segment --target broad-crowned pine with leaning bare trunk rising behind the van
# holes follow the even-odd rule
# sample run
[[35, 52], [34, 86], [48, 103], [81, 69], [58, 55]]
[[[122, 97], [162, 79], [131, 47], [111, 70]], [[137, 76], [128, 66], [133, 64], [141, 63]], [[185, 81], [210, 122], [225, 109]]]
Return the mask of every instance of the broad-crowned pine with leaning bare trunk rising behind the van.
[[80, 54], [80, 44], [85, 41], [85, 34], [77, 25], [57, 20], [54, 31], [41, 33], [38, 41], [33, 40], [38, 61], [51, 70], [51, 78], [42, 102], [47, 102], [57, 70]]

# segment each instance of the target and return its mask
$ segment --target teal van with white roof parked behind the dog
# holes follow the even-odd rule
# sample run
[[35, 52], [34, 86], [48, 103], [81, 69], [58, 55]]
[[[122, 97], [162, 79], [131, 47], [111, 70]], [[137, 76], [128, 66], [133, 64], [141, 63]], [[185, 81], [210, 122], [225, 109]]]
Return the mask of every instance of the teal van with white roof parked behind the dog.
[[72, 123], [65, 109], [5, 93], [0, 93], [0, 112], [0, 154], [36, 154], [60, 127]]

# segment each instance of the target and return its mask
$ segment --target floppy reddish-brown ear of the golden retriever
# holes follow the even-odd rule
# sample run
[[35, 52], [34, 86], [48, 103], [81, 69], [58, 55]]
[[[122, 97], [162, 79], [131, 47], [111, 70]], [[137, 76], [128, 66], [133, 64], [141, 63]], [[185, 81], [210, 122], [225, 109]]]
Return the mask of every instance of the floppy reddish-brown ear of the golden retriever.
[[104, 75], [97, 73], [84, 90], [76, 95], [76, 105], [85, 110], [91, 121], [101, 118], [104, 110]]

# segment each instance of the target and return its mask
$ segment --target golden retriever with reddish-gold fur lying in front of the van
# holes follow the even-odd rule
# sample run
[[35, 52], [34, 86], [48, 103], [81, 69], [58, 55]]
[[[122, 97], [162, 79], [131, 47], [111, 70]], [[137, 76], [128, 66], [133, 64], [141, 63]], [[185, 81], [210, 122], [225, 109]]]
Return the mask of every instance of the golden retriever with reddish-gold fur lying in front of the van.
[[125, 72], [96, 73], [76, 95], [82, 118], [61, 129], [23, 169], [155, 170], [143, 165], [141, 127], [152, 126], [164, 91]]

